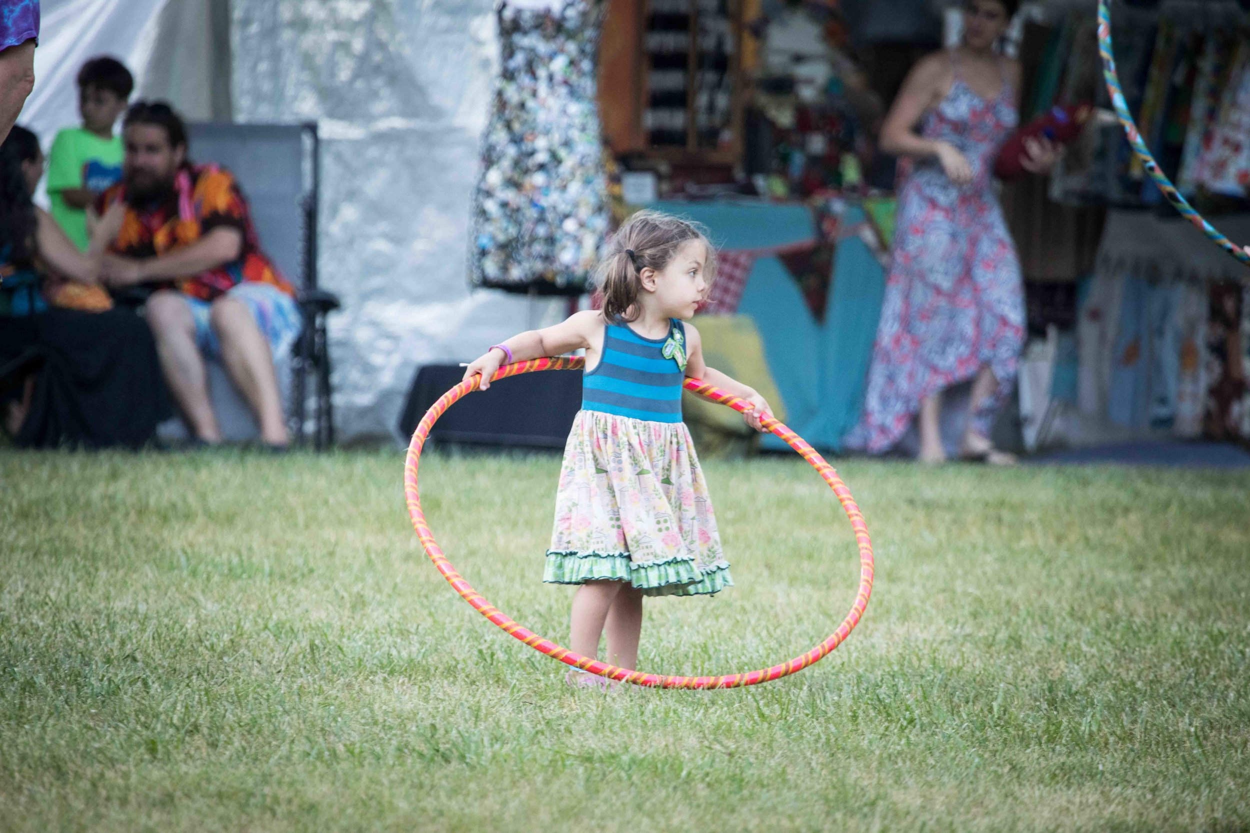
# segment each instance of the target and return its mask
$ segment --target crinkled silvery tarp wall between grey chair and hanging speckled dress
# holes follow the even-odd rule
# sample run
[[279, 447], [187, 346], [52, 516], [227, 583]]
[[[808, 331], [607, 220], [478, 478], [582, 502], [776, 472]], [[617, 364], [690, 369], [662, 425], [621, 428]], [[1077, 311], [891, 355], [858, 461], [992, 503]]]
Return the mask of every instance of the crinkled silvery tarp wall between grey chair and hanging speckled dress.
[[419, 366], [468, 361], [565, 310], [468, 288], [492, 2], [235, 0], [231, 25], [235, 120], [316, 120], [325, 140], [319, 274], [344, 301], [330, 318], [339, 436], [400, 438]]

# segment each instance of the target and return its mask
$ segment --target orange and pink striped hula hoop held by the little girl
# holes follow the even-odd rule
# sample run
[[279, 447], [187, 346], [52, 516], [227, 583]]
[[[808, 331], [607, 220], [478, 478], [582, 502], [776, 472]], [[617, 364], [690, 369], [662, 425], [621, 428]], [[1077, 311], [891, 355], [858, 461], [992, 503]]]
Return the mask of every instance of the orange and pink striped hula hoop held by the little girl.
[[[504, 367], [500, 367], [499, 372], [491, 377], [491, 381], [516, 376], [519, 373], [530, 373], [544, 370], [579, 370], [582, 363], [584, 360], [581, 358], [568, 357], [536, 358], [526, 362], [516, 362], [514, 365], [505, 365]], [[420, 425], [416, 426], [416, 431], [412, 432], [412, 441], [408, 447], [408, 458], [404, 466], [404, 495], [408, 501], [408, 513], [412, 518], [412, 528], [416, 530], [416, 535], [421, 540], [425, 555], [430, 557], [430, 561], [434, 562], [438, 571], [442, 573], [442, 577], [448, 579], [448, 583], [451, 584], [458, 593], [460, 593], [461, 598], [469, 602], [475, 611], [490, 619], [491, 623], [502, 628], [504, 632], [520, 639], [539, 653], [545, 653], [546, 656], [559, 659], [565, 664], [581, 668], [582, 671], [599, 674], [600, 677], [608, 677], [609, 679], [634, 683], [635, 686], [651, 686], [659, 688], [739, 688], [741, 686], [754, 686], [756, 683], [780, 679], [781, 677], [786, 677], [819, 662], [834, 648], [841, 644], [848, 636], [850, 636], [850, 632], [864, 616], [869, 596], [872, 593], [872, 542], [869, 538], [868, 525], [864, 523], [864, 516], [860, 513], [859, 506], [855, 505], [855, 500], [851, 497], [850, 490], [846, 488], [846, 485], [838, 476], [838, 472], [834, 471], [832, 466], [825, 462], [825, 460], [816, 453], [816, 450], [809, 446], [802, 437], [784, 426], [779, 420], [768, 420], [765, 422], [765, 427], [784, 440], [791, 448], [798, 451], [804, 460], [811, 463], [818, 472], [820, 472], [824, 481], [829, 483], [830, 488], [834, 490], [834, 495], [838, 496], [839, 502], [842, 505], [846, 517], [850, 518], [851, 528], [855, 530], [855, 542], [859, 546], [860, 553], [859, 593], [855, 596], [855, 603], [851, 606], [850, 613], [846, 614], [846, 618], [842, 619], [842, 623], [829, 636], [829, 638], [811, 651], [770, 668], [749, 671], [741, 674], [725, 674], [721, 677], [681, 677], [669, 674], [649, 674], [641, 671], [610, 666], [606, 662], [600, 662], [598, 659], [591, 659], [590, 657], [574, 653], [572, 651], [562, 648], [555, 642], [521, 627], [521, 624], [509, 618], [499, 608], [488, 602], [481, 593], [475, 591], [472, 586], [470, 586], [469, 582], [466, 582], [464, 577], [456, 572], [456, 568], [450, 561], [448, 561], [448, 557], [442, 555], [442, 550], [434, 540], [434, 533], [430, 532], [430, 527], [425, 522], [425, 513], [421, 511], [421, 498], [416, 482], [416, 470], [421, 457], [421, 448], [425, 446], [425, 441], [430, 436], [430, 428], [434, 426], [435, 421], [438, 421], [438, 418], [442, 416], [449, 407], [451, 407], [451, 405], [454, 405], [462, 396], [478, 390], [480, 382], [480, 376], [474, 376], [468, 382], [460, 382], [454, 388], [444, 393], [439, 401], [435, 402], [429, 411], [426, 411], [425, 417], [421, 420]], [[699, 380], [688, 378], [685, 388], [698, 393], [705, 400], [728, 405], [735, 411], [742, 412], [749, 410], [749, 406], [741, 400]]]

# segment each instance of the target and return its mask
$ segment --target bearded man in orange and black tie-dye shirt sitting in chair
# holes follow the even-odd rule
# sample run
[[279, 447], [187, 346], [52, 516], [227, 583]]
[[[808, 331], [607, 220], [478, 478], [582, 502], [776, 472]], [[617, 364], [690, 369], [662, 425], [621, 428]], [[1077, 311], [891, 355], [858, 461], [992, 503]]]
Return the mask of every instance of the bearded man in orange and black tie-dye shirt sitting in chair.
[[294, 291], [260, 251], [234, 177], [186, 156], [182, 120], [140, 101], [122, 122], [122, 181], [100, 195], [92, 239], [110, 240], [104, 281], [149, 285], [145, 317], [161, 370], [198, 441], [221, 432], [204, 356], [221, 360], [256, 415], [261, 441], [289, 442], [274, 356], [299, 336]]

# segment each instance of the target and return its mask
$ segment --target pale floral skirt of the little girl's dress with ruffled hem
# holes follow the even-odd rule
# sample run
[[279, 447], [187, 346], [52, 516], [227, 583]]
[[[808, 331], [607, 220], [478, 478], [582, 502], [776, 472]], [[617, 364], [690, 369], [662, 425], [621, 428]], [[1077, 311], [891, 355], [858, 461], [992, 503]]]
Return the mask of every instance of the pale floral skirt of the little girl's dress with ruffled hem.
[[684, 422], [581, 411], [564, 451], [542, 581], [628, 581], [648, 596], [732, 586]]

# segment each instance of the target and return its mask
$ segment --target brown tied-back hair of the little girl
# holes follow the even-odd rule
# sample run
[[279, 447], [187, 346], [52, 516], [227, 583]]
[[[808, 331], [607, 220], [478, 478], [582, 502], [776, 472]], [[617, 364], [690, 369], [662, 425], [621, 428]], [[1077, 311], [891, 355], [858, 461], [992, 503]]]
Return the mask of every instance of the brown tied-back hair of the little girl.
[[604, 317], [609, 321], [636, 318], [642, 270], [662, 271], [672, 262], [678, 249], [691, 240], [700, 241], [708, 251], [704, 280], [710, 290], [716, 278], [716, 250], [701, 225], [660, 211], [631, 215], [612, 235], [608, 255], [595, 270], [595, 285], [604, 296]]

